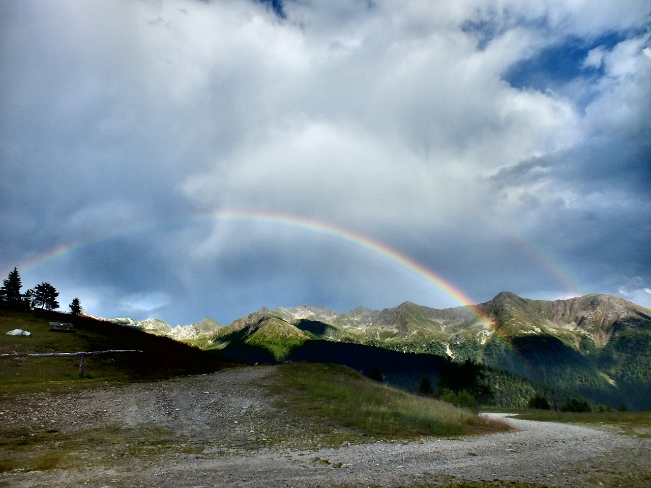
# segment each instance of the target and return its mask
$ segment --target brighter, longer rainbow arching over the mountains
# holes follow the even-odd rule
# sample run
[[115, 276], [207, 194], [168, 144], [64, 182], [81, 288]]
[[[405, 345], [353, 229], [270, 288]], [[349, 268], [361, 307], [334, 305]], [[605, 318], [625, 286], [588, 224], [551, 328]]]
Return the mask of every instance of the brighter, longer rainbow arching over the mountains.
[[354, 247], [370, 251], [372, 254], [376, 254], [381, 258], [388, 260], [389, 262], [393, 262], [394, 264], [407, 269], [409, 272], [417, 275], [418, 277], [424, 278], [424, 280], [433, 284], [436, 288], [443, 291], [443, 293], [449, 295], [449, 297], [458, 302], [459, 305], [465, 306], [484, 324], [489, 325], [490, 323], [484, 314], [482, 314], [482, 312], [473, 305], [473, 300], [465, 295], [463, 291], [459, 290], [443, 278], [439, 277], [424, 265], [413, 260], [409, 256], [406, 256], [406, 254], [402, 254], [401, 252], [396, 251], [395, 249], [385, 245], [384, 243], [381, 243], [380, 241], [376, 241], [370, 237], [357, 234], [351, 230], [322, 221], [316, 221], [314, 219], [299, 217], [298, 215], [288, 215], [283, 213], [242, 210], [217, 210], [180, 219], [154, 222], [149, 221], [148, 223], [132, 224], [131, 226], [128, 226], [128, 228], [122, 228], [116, 232], [109, 232], [103, 234], [102, 236], [92, 237], [83, 241], [76, 241], [75, 243], [69, 243], [68, 245], [60, 245], [49, 250], [46, 252], [46, 254], [38, 256], [38, 258], [35, 258], [30, 262], [23, 263], [23, 267], [31, 269], [40, 264], [44, 264], [45, 262], [55, 260], [57, 258], [62, 258], [63, 256], [66, 256], [67, 254], [70, 254], [77, 249], [80, 249], [81, 247], [85, 247], [87, 245], [91, 245], [92, 243], [97, 243], [111, 237], [138, 232], [145, 230], [146, 228], [158, 226], [160, 224], [169, 224], [174, 222], [183, 224], [187, 223], [188, 221], [235, 221], [274, 224], [289, 226], [292, 228], [297, 228], [299, 230], [304, 230], [305, 232], [320, 234], [322, 236], [327, 236], [338, 241], [343, 241], [344, 243], [348, 243]]

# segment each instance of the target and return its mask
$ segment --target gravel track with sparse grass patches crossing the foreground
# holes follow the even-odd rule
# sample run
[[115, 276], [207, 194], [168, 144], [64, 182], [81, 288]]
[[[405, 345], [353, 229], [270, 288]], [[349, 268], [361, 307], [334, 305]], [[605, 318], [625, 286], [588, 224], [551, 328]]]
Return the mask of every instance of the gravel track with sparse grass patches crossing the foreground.
[[16, 464], [0, 475], [0, 486], [398, 487], [452, 477], [617, 486], [633, 470], [651, 472], [650, 439], [514, 419], [508, 422], [518, 431], [511, 433], [322, 448], [322, 440], [333, 445], [346, 432], [277, 407], [283, 399], [270, 394], [273, 371], [233, 368], [1, 399], [3, 457], [26, 466], [54, 457], [55, 466], [21, 470]]

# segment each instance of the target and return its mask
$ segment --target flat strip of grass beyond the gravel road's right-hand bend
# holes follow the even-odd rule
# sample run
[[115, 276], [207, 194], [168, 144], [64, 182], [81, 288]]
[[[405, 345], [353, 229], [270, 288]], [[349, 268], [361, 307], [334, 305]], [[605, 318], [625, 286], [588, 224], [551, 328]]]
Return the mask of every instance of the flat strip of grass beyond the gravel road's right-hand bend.
[[651, 412], [557, 412], [529, 409], [521, 411], [517, 418], [542, 422], [569, 422], [592, 426], [618, 427], [622, 433], [651, 437]]

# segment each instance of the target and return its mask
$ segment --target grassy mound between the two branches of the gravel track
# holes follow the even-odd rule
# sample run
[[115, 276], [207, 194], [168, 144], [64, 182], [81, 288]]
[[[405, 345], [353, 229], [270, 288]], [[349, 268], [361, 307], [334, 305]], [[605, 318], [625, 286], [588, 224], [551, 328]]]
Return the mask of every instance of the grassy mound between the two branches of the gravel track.
[[287, 364], [279, 369], [276, 388], [291, 393], [285, 396], [293, 402], [290, 413], [322, 418], [374, 438], [407, 441], [509, 429], [504, 422], [396, 390], [333, 364]]

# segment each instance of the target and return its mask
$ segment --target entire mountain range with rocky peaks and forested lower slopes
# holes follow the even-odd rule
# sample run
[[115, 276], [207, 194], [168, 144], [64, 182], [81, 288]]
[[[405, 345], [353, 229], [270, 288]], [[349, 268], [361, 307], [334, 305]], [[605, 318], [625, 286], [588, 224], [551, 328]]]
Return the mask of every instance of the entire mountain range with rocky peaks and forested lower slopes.
[[486, 367], [501, 406], [522, 406], [542, 390], [553, 398], [579, 394], [651, 408], [651, 310], [611, 295], [543, 301], [502, 292], [471, 306], [439, 310], [406, 302], [344, 314], [309, 305], [263, 307], [228, 326], [208, 318], [174, 328], [158, 319], [115, 321], [241, 362], [318, 358], [380, 368], [389, 381], [412, 389], [423, 376], [436, 381], [441, 359], [471, 360]]

